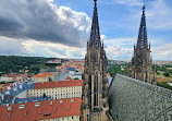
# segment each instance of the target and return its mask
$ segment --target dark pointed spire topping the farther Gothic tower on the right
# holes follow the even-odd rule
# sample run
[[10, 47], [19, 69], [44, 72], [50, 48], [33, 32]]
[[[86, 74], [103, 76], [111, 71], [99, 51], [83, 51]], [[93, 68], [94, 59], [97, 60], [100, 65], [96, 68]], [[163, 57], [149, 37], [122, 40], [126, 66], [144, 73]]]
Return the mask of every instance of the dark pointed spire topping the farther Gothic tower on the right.
[[146, 15], [145, 15], [145, 5], [143, 7], [143, 15], [140, 20], [139, 33], [137, 38], [137, 48], [143, 49], [147, 48], [147, 28], [146, 28]]

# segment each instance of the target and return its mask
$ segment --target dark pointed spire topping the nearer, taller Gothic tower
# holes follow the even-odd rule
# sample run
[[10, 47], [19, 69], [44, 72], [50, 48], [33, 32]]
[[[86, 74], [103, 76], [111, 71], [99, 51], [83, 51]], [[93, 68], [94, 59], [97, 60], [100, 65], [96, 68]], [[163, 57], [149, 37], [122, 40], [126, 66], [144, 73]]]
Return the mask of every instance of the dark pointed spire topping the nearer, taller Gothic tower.
[[98, 22], [98, 13], [97, 13], [97, 0], [94, 0], [94, 1], [95, 1], [95, 8], [94, 8], [94, 15], [93, 15], [93, 23], [91, 23], [91, 32], [90, 32], [91, 43], [100, 40], [99, 22]]

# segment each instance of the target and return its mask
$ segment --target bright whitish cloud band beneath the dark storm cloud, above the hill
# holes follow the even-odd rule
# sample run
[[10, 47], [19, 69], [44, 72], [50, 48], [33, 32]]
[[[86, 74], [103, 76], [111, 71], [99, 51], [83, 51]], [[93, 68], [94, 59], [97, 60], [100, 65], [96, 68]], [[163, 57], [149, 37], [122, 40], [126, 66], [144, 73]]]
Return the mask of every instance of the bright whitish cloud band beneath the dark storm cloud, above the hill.
[[7, 56], [37, 56], [57, 58], [84, 59], [86, 48], [70, 47], [62, 44], [37, 41], [34, 39], [13, 39], [0, 36], [0, 55]]

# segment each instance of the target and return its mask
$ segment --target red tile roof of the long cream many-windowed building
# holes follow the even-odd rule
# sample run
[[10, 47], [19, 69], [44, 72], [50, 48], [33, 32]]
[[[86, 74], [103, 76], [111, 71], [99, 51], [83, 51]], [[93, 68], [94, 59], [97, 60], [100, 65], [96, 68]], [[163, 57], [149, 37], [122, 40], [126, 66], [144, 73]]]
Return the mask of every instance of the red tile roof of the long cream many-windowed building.
[[56, 88], [56, 87], [70, 87], [70, 86], [82, 86], [83, 80], [72, 81], [59, 81], [59, 82], [44, 82], [35, 84], [34, 89], [39, 88]]

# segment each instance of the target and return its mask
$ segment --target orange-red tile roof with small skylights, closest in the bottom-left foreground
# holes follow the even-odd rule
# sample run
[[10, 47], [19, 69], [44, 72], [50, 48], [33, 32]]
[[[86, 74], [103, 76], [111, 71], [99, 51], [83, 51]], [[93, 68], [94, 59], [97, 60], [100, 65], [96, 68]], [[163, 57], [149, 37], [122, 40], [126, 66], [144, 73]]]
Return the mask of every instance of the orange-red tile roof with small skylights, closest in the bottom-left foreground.
[[[71, 102], [71, 99], [74, 99], [74, 101]], [[63, 102], [60, 104], [60, 100], [63, 100]], [[50, 101], [52, 101], [52, 105], [50, 105]], [[36, 121], [79, 116], [81, 102], [82, 98], [77, 97], [40, 101], [39, 107], [35, 107], [35, 102], [16, 104], [10, 105], [12, 109], [9, 111], [7, 106], [0, 106], [0, 118], [1, 121]], [[20, 105], [25, 105], [24, 109], [19, 109]]]

